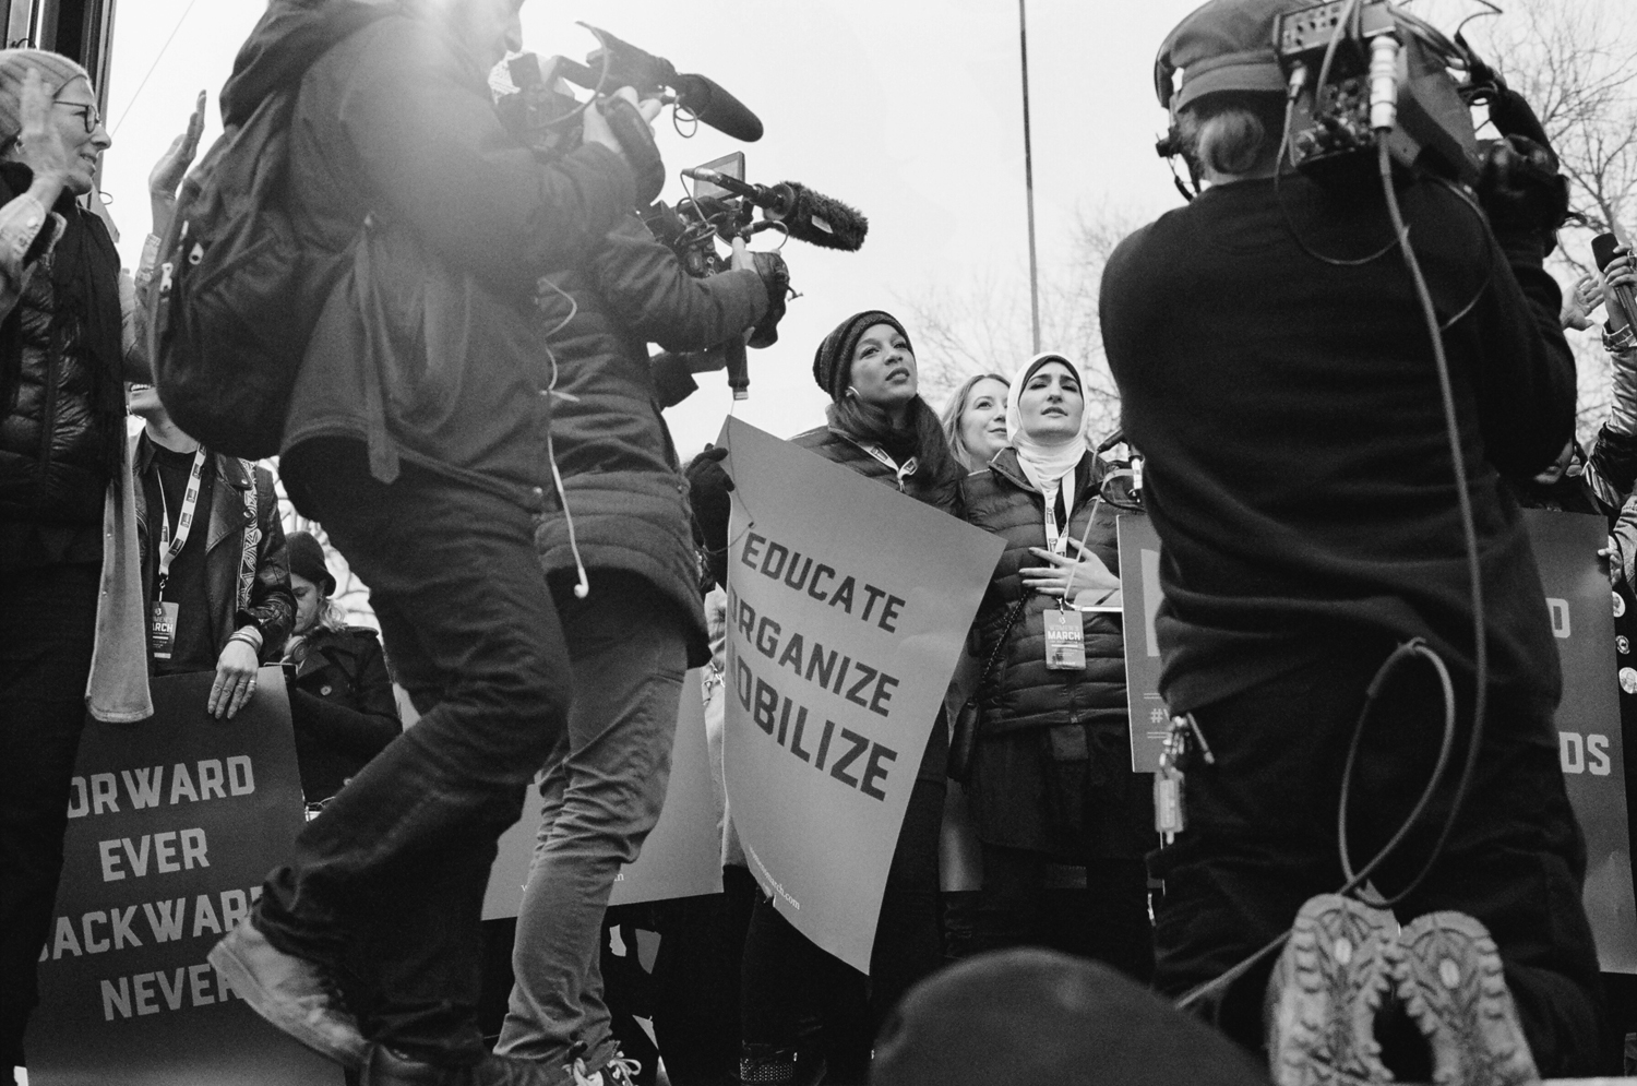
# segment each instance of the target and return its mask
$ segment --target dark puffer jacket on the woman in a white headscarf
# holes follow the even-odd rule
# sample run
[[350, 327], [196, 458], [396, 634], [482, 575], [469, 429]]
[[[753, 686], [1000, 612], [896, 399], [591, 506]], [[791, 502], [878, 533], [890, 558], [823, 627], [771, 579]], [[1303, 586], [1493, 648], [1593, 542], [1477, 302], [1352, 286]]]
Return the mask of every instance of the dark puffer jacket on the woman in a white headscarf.
[[[1120, 573], [1120, 547], [1115, 537], [1118, 509], [1094, 500], [1107, 467], [1095, 454], [1085, 454], [1074, 472], [1074, 506], [1069, 513], [1069, 536], [1085, 537], [1085, 547], [1097, 554], [1112, 573]], [[1044, 498], [1018, 467], [1017, 450], [1003, 449], [985, 472], [967, 475], [961, 483], [961, 508], [977, 527], [1000, 536], [1007, 549], [995, 567], [994, 580], [977, 609], [977, 658], [989, 660], [1005, 631], [1012, 606], [1025, 596], [1023, 567], [1044, 565], [1030, 547], [1046, 545]], [[1007, 634], [1005, 647], [979, 691], [982, 704], [981, 735], [997, 735], [1061, 724], [1094, 724], [1112, 739], [1126, 735], [1125, 637], [1120, 619], [1112, 614], [1085, 614], [1085, 670], [1053, 672], [1046, 667], [1048, 608], [1051, 596], [1031, 593], [1023, 611]]]

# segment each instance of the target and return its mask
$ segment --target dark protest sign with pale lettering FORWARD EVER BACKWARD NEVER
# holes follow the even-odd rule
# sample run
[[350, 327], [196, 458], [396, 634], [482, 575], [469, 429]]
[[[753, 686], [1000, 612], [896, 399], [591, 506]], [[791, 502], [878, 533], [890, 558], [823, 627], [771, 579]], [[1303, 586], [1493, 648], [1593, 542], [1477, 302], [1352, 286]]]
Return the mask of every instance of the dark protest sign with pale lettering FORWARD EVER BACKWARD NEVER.
[[283, 672], [231, 721], [214, 672], [152, 681], [154, 716], [87, 721], [26, 1038], [33, 1086], [339, 1086], [205, 962], [303, 826]]

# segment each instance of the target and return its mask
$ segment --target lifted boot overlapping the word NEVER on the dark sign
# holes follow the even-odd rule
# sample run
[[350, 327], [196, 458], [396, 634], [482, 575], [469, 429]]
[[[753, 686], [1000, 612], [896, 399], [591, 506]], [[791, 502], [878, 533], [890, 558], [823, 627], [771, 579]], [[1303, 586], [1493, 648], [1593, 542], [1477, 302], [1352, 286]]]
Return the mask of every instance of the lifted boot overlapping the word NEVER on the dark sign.
[[208, 958], [264, 1019], [345, 1068], [363, 1066], [368, 1042], [324, 966], [278, 950], [252, 921], [228, 932]]

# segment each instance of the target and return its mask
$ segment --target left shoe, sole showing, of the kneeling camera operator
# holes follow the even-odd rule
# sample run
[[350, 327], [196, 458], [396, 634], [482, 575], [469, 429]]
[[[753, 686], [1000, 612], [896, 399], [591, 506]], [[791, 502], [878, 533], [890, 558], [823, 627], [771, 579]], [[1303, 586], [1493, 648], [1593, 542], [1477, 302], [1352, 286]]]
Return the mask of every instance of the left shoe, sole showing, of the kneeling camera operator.
[[1321, 894], [1297, 912], [1267, 981], [1267, 1058], [1277, 1086], [1393, 1081], [1375, 1014], [1398, 957], [1391, 912]]

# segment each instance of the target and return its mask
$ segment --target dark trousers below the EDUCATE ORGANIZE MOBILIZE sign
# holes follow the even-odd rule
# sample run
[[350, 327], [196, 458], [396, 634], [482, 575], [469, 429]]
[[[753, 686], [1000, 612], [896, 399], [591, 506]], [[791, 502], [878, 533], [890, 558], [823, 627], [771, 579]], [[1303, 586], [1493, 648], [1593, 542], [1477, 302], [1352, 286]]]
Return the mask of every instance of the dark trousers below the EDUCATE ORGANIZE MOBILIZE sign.
[[802, 1019], [817, 1017], [828, 1081], [863, 1083], [869, 1048], [887, 1012], [938, 968], [938, 827], [943, 781], [917, 780], [887, 870], [869, 978], [833, 958], [758, 898], [745, 940], [743, 1042], [791, 1048]]

